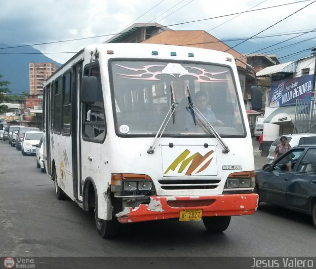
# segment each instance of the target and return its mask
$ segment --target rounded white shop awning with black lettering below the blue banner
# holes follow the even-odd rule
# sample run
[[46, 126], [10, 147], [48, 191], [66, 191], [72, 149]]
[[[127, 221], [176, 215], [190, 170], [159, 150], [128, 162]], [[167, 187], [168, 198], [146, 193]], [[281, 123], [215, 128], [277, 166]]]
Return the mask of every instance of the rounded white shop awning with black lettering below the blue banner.
[[[306, 112], [305, 108], [308, 106], [309, 105], [306, 105], [305, 107], [300, 106], [300, 109]], [[289, 123], [294, 124], [295, 112], [296, 112], [296, 106], [279, 107], [270, 115], [268, 115], [263, 122], [274, 123], [274, 124], [279, 124], [279, 125], [289, 124]]]

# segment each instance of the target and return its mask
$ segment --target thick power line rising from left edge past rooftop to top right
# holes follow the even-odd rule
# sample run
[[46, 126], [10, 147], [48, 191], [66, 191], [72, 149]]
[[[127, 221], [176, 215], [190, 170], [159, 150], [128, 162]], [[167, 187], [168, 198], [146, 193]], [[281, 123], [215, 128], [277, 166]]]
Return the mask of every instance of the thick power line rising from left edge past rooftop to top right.
[[[205, 21], [205, 20], [212, 20], [212, 19], [223, 18], [223, 17], [227, 17], [227, 16], [233, 16], [233, 15], [237, 15], [237, 14], [241, 14], [241, 13], [245, 13], [245, 12], [260, 11], [260, 10], [264, 10], [264, 9], [275, 8], [275, 7], [280, 7], [280, 6], [285, 6], [285, 5], [295, 4], [295, 3], [301, 3], [301, 2], [306, 2], [306, 1], [311, 1], [311, 0], [302, 0], [302, 1], [297, 1], [297, 2], [292, 2], [292, 3], [287, 3], [287, 4], [280, 4], [280, 5], [275, 5], [275, 6], [269, 6], [269, 7], [264, 7], [264, 8], [259, 8], [259, 9], [244, 11], [244, 12], [238, 12], [238, 13], [232, 13], [232, 14], [227, 14], [227, 15], [222, 15], [222, 16], [217, 16], [217, 17], [211, 17], [211, 18], [206, 18], [206, 19], [200, 19], [200, 20], [195, 20], [195, 21], [187, 21], [187, 22], [182, 22], [182, 23], [175, 23], [175, 24], [170, 24], [170, 25], [157, 27], [157, 28], [164, 28], [164, 27], [182, 25], [182, 24], [187, 24], [187, 23], [193, 23], [193, 22], [199, 22], [199, 21]], [[36, 43], [36, 44], [29, 44], [29, 45], [10, 46], [10, 47], [0, 48], [0, 50], [1, 49], [8, 49], [8, 48], [28, 47], [28, 46], [37, 46], [37, 45], [47, 45], [47, 44], [54, 44], [54, 43], [78, 41], [78, 40], [84, 40], [84, 39], [90, 39], [90, 38], [101, 38], [101, 37], [115, 36], [115, 35], [123, 34], [123, 33], [124, 32], [119, 32], [117, 34], [106, 34], [106, 35], [100, 35], [100, 36], [94, 36], [94, 37], [88, 37], [88, 38], [74, 38], [74, 39], [52, 41], [52, 42], [43, 42], [43, 43]]]

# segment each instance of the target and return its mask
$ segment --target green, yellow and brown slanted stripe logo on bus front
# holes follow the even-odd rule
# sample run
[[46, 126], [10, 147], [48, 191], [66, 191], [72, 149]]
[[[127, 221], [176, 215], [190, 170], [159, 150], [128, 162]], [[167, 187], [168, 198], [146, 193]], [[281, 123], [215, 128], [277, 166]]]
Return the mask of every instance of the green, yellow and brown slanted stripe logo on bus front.
[[213, 153], [214, 151], [211, 150], [208, 153], [206, 153], [204, 156], [202, 156], [201, 154], [197, 152], [196, 154], [193, 154], [192, 156], [188, 157], [188, 155], [190, 154], [190, 151], [185, 150], [170, 164], [170, 166], [167, 168], [164, 174], [167, 174], [170, 170], [174, 171], [180, 163], [181, 165], [178, 170], [178, 173], [182, 173], [183, 170], [190, 164], [190, 162], [191, 164], [185, 173], [187, 176], [202, 172], [211, 163], [213, 159], [213, 156], [212, 156]]

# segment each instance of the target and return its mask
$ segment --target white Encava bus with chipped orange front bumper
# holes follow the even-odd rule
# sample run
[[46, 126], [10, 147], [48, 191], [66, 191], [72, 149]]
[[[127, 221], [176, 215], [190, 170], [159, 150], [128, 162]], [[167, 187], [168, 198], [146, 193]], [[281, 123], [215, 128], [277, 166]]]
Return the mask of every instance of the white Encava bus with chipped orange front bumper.
[[[261, 96], [261, 92], [260, 92]], [[103, 238], [132, 222], [253, 214], [251, 135], [230, 54], [157, 44], [85, 47], [44, 86], [44, 164], [58, 199]]]

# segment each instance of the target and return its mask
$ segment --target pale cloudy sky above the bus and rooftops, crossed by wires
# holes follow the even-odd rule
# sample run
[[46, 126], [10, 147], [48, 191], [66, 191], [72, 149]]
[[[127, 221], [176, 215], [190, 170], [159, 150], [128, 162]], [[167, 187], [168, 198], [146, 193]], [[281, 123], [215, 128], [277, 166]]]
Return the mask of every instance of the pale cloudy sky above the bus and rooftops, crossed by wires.
[[[281, 4], [287, 5], [267, 8]], [[254, 9], [262, 10], [250, 12]], [[288, 48], [282, 48], [285, 45], [315, 37], [312, 40], [316, 46], [315, 10], [316, 0], [0, 0], [0, 43], [33, 45], [63, 64], [84, 46], [107, 40], [133, 23], [157, 22], [172, 30], [204, 30], [223, 40], [250, 38], [298, 11], [256, 36], [277, 37], [251, 38], [234, 48], [251, 53], [240, 50], [249, 42], [262, 49], [266, 42], [275, 44], [293, 38], [270, 48], [280, 48], [278, 51], [259, 51], [284, 57], [311, 48], [310, 43], [302, 42], [289, 52]], [[238, 12], [241, 13], [230, 15]], [[192, 22], [196, 20], [202, 21]], [[302, 35], [314, 29], [314, 34]], [[294, 38], [298, 35], [302, 36]], [[60, 42], [77, 38], [85, 39]], [[227, 44], [233, 46], [241, 41]], [[34, 45], [48, 42], [55, 43]], [[0, 53], [4, 52], [5, 49], [0, 49]], [[297, 59], [301, 56], [297, 54]], [[287, 62], [284, 58], [280, 62]]]

